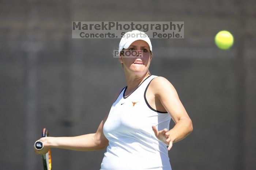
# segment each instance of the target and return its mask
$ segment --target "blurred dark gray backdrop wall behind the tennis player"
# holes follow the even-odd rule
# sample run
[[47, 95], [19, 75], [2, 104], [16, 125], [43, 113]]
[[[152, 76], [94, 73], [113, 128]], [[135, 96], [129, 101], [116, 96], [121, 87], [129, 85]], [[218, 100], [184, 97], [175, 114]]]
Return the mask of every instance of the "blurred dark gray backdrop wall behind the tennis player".
[[[256, 166], [256, 2], [0, 1], [0, 169], [39, 170], [33, 143], [93, 133], [125, 86], [119, 39], [72, 39], [72, 21], [184, 21], [184, 39], [152, 39], [150, 72], [176, 88], [194, 131], [169, 151], [173, 170]], [[229, 30], [234, 46], [214, 44]], [[173, 127], [174, 123], [171, 123]], [[97, 170], [102, 151], [52, 149], [54, 170]]]

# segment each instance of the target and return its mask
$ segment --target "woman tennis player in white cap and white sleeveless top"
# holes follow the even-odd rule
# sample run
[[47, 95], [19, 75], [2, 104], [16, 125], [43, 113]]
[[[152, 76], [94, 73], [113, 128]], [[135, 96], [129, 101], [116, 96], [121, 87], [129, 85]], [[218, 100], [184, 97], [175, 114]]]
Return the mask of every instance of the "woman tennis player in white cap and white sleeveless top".
[[[124, 55], [140, 50], [141, 55]], [[101, 170], [171, 170], [168, 151], [192, 130], [192, 121], [173, 85], [151, 75], [152, 45], [144, 32], [127, 32], [119, 44], [119, 61], [127, 86], [116, 93], [110, 112], [94, 134], [39, 139], [45, 154], [49, 148], [106, 152]], [[171, 118], [175, 126], [169, 130]]]

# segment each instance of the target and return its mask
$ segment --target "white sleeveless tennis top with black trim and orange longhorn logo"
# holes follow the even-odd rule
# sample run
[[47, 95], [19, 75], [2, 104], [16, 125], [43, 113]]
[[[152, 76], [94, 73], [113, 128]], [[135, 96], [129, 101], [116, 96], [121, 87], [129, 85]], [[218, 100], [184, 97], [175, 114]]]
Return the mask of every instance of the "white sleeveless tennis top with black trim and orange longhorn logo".
[[171, 117], [167, 112], [151, 108], [146, 101], [149, 83], [157, 76], [148, 76], [129, 96], [127, 86], [113, 103], [103, 133], [109, 146], [101, 163], [101, 170], [171, 170], [166, 144], [159, 141], [152, 130], [167, 128]]

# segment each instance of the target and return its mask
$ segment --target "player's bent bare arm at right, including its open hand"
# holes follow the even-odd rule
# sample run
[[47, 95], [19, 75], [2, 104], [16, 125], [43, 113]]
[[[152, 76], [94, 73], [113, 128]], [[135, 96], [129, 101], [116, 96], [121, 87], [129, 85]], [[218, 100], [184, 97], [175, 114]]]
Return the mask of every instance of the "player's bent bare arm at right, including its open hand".
[[155, 97], [161, 101], [163, 107], [175, 122], [175, 126], [169, 131], [166, 128], [158, 131], [154, 125], [152, 126], [157, 138], [169, 145], [168, 150], [170, 150], [173, 143], [184, 139], [193, 131], [192, 121], [182, 105], [174, 86], [166, 78], [154, 78], [151, 82], [151, 87], [154, 89]]

